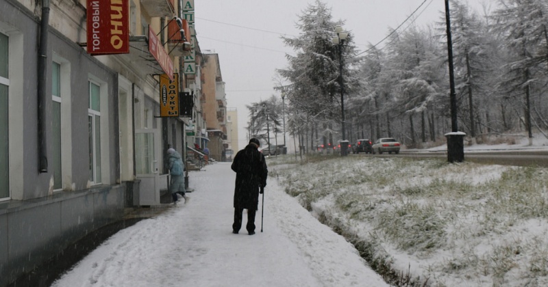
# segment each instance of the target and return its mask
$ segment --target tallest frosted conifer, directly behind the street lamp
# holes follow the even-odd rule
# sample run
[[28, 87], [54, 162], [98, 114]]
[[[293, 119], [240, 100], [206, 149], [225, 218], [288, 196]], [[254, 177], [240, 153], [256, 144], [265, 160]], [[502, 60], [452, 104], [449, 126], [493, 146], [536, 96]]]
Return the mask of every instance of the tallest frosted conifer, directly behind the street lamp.
[[[277, 70], [290, 83], [284, 89], [290, 105], [306, 115], [307, 133], [312, 135], [313, 127], [321, 126], [324, 141], [325, 137], [332, 135], [332, 125], [340, 122], [340, 113], [334, 109], [338, 106], [340, 110], [340, 101], [336, 97], [340, 91], [337, 81], [340, 59], [332, 38], [335, 36], [335, 27], [343, 24], [342, 20], [332, 20], [331, 9], [316, 0], [299, 15], [299, 36], [282, 37], [284, 43], [295, 51], [295, 55], [286, 55], [288, 67]], [[349, 36], [341, 51], [345, 63], [345, 91], [349, 94], [357, 90], [359, 85], [356, 73], [351, 69], [358, 61], [351, 57], [356, 54], [355, 49], [352, 36]]]

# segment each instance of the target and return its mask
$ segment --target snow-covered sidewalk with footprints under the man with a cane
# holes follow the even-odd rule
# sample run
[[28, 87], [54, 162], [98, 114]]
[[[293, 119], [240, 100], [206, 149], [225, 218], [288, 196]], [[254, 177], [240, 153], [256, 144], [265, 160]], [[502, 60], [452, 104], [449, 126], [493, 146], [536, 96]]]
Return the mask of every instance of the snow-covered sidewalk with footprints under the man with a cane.
[[256, 234], [247, 234], [245, 214], [232, 234], [234, 178], [229, 163], [190, 173], [188, 204], [121, 230], [52, 286], [388, 286], [275, 178], [264, 232], [259, 206]]

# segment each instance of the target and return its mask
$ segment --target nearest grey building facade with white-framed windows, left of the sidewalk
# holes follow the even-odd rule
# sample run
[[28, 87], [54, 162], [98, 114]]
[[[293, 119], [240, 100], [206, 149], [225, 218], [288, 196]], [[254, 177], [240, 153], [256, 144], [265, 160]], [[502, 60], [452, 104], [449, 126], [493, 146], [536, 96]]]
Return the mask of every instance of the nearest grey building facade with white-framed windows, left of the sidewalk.
[[129, 53], [91, 55], [85, 0], [0, 0], [0, 286], [128, 208], [160, 204], [166, 150], [185, 154], [203, 122], [199, 100], [161, 116], [162, 74], [201, 94], [195, 33], [169, 33], [193, 21], [194, 1], [178, 3], [129, 0]]

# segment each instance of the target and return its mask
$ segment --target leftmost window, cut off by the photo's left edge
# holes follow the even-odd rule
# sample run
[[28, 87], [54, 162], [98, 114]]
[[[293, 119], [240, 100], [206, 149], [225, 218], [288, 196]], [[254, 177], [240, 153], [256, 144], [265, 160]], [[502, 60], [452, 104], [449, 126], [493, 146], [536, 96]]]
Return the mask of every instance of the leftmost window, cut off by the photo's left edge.
[[0, 200], [10, 197], [10, 146], [8, 122], [8, 53], [10, 38], [0, 33]]

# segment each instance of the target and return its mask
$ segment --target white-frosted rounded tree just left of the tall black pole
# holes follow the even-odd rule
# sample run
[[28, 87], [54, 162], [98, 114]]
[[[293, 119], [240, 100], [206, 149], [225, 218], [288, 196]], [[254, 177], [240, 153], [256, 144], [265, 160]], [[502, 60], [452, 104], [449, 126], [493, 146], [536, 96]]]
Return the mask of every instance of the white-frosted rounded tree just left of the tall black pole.
[[[403, 125], [399, 128], [399, 134], [408, 137], [414, 144], [418, 131], [414, 120], [419, 119], [421, 138], [426, 141], [427, 118], [434, 113], [434, 102], [441, 95], [438, 82], [443, 69], [438, 43], [429, 30], [415, 27], [399, 33], [390, 43], [390, 57], [383, 73], [384, 85], [391, 88], [384, 102], [386, 122], [390, 124], [388, 113], [400, 120], [407, 118], [407, 122], [401, 121]], [[388, 92], [387, 89], [384, 91]], [[431, 133], [434, 130], [432, 124], [429, 124]]]

